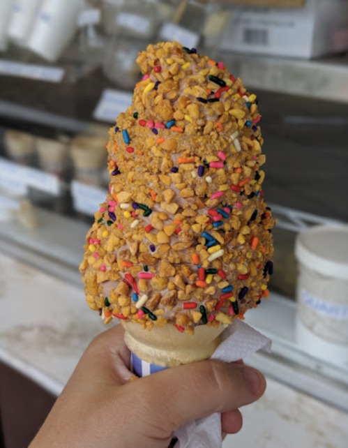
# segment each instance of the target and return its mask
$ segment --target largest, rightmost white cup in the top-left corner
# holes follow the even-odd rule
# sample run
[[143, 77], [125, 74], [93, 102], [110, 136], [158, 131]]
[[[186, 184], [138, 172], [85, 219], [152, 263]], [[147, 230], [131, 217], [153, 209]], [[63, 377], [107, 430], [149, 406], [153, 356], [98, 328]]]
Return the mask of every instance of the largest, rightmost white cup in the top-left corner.
[[82, 0], [43, 0], [28, 47], [47, 61], [58, 59], [73, 38]]

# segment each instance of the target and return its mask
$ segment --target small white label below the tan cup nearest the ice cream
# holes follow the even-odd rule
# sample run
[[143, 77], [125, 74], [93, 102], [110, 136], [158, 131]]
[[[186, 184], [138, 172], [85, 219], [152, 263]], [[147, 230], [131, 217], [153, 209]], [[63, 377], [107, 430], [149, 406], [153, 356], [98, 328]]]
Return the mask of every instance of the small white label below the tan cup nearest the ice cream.
[[93, 185], [82, 184], [79, 181], [72, 181], [71, 193], [75, 210], [93, 216], [98, 211], [100, 204], [105, 202], [107, 190]]

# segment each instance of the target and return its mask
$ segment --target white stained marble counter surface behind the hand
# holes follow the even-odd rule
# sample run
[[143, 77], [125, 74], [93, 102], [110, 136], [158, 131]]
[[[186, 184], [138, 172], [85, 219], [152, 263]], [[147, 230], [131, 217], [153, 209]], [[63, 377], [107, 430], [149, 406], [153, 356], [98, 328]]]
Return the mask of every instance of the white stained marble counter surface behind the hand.
[[[0, 360], [59, 394], [93, 336], [105, 329], [83, 288], [0, 255]], [[268, 379], [224, 448], [347, 448], [348, 415]]]

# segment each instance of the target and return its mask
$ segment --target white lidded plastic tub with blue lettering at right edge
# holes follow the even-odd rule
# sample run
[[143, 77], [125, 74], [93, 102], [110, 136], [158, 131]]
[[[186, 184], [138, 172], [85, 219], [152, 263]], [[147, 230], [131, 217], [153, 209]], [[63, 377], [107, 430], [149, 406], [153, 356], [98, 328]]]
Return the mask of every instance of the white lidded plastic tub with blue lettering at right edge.
[[317, 226], [296, 241], [296, 338], [315, 357], [348, 364], [348, 226]]

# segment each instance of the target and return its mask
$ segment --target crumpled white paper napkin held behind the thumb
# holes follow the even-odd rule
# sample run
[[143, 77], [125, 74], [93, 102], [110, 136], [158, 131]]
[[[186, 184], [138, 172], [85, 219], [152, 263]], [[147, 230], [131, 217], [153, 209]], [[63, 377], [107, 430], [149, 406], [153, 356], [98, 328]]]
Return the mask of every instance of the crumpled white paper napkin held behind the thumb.
[[[272, 341], [241, 320], [236, 320], [222, 333], [222, 343], [211, 359], [238, 361], [258, 350], [271, 352]], [[175, 448], [221, 448], [221, 414], [216, 412], [204, 419], [190, 421], [175, 433]]]

